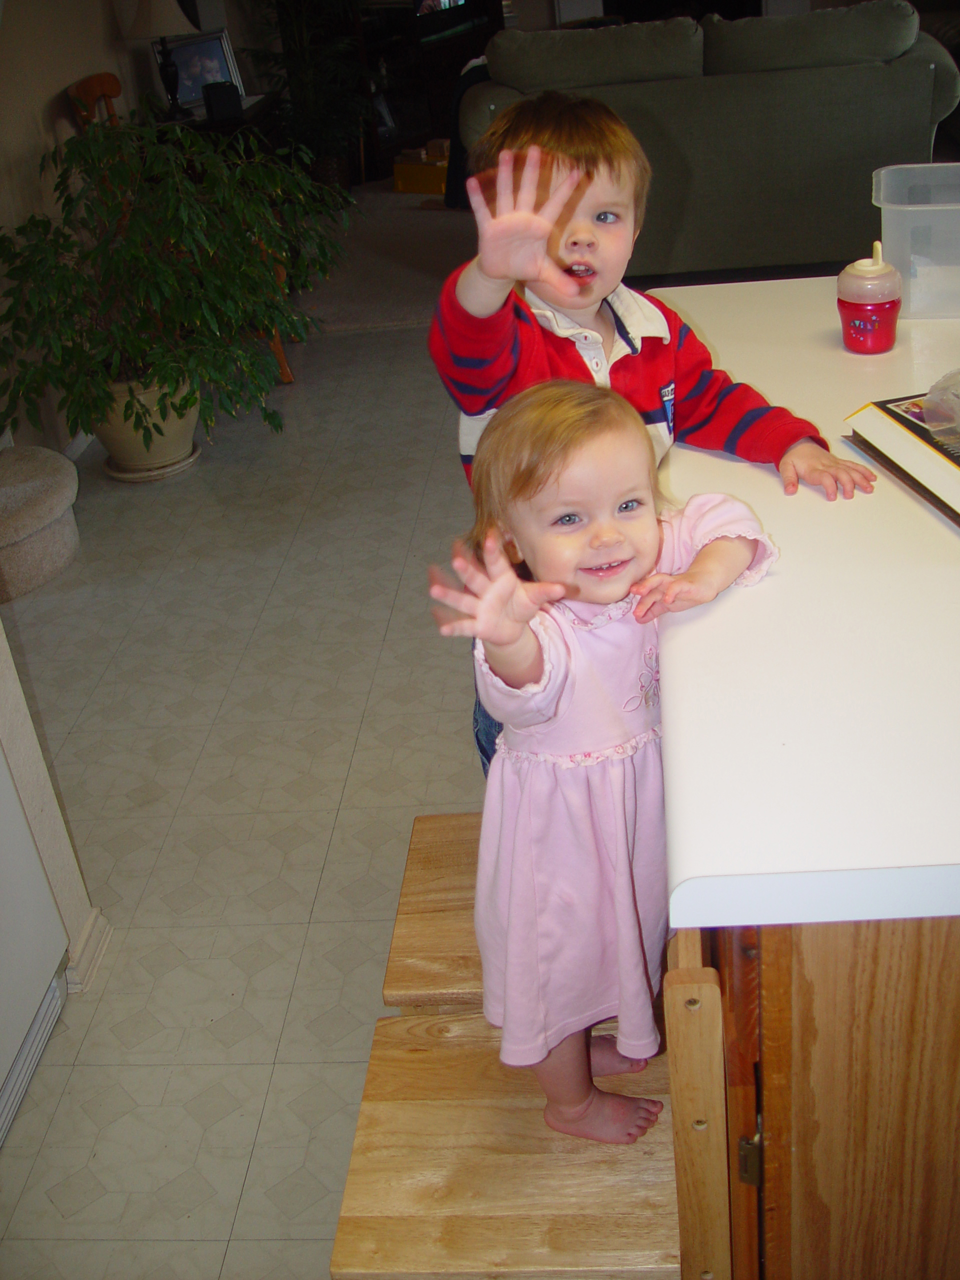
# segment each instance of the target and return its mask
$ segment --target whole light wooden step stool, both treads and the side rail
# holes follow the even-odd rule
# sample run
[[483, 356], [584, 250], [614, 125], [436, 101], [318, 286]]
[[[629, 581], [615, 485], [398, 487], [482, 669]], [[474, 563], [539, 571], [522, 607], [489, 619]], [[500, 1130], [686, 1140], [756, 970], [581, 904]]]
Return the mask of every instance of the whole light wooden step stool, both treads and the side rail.
[[680, 1280], [681, 1239], [684, 1280], [730, 1280], [719, 988], [699, 931], [671, 943], [669, 1068], [603, 1085], [660, 1097], [654, 1129], [631, 1147], [556, 1134], [477, 1011], [479, 836], [480, 814], [413, 823], [383, 987], [406, 1016], [374, 1036], [333, 1280]]

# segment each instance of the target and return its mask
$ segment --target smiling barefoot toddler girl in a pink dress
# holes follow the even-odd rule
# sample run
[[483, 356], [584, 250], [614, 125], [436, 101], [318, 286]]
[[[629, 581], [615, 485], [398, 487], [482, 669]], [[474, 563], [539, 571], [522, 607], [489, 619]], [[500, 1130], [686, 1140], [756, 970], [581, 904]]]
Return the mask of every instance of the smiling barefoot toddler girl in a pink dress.
[[[475, 637], [503, 721], [486, 783], [475, 923], [502, 1060], [531, 1066], [547, 1124], [628, 1143], [662, 1105], [599, 1091], [657, 1052], [667, 933], [655, 618], [776, 559], [719, 495], [657, 513], [653, 444], [616, 392], [556, 381], [509, 401], [474, 461], [476, 520], [431, 571], [440, 632]], [[618, 1018], [618, 1034], [590, 1028]]]

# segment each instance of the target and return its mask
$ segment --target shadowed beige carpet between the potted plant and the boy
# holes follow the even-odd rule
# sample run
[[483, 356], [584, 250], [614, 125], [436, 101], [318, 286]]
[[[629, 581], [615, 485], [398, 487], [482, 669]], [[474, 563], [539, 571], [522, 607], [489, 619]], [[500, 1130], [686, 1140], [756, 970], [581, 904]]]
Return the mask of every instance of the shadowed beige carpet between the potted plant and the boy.
[[472, 215], [398, 195], [389, 179], [355, 187], [353, 198], [343, 261], [301, 306], [325, 333], [429, 324], [440, 285], [476, 252]]

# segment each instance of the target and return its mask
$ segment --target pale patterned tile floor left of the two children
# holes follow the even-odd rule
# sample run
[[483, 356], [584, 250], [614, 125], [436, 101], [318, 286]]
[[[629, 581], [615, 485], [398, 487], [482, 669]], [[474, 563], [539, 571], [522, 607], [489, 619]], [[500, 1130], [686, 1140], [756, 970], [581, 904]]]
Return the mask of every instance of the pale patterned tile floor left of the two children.
[[0, 611], [115, 928], [0, 1149], [0, 1280], [329, 1274], [411, 823], [483, 795], [425, 335], [292, 347], [284, 434], [161, 484], [91, 445], [78, 559]]

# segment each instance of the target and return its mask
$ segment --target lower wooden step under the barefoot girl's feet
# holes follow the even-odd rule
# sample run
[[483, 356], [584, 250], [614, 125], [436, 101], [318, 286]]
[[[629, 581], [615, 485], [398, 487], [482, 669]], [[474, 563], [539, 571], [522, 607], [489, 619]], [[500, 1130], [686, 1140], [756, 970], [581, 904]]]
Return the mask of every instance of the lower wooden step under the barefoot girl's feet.
[[631, 1147], [554, 1133], [480, 1014], [376, 1024], [330, 1276], [680, 1280], [667, 1064], [604, 1088], [658, 1097]]

